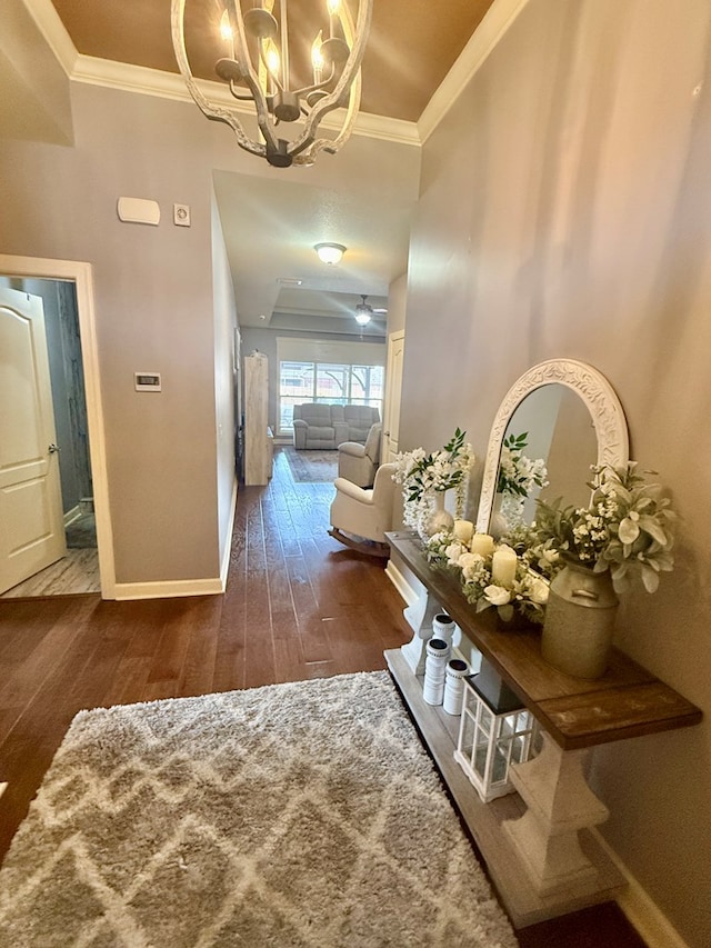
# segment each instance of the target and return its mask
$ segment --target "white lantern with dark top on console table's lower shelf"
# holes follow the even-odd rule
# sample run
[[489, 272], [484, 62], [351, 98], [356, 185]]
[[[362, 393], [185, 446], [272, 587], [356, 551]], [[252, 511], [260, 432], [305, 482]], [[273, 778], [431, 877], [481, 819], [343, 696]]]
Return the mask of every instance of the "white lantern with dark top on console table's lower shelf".
[[454, 759], [484, 804], [514, 792], [509, 767], [531, 757], [537, 729], [533, 715], [482, 659], [479, 675], [464, 679]]

